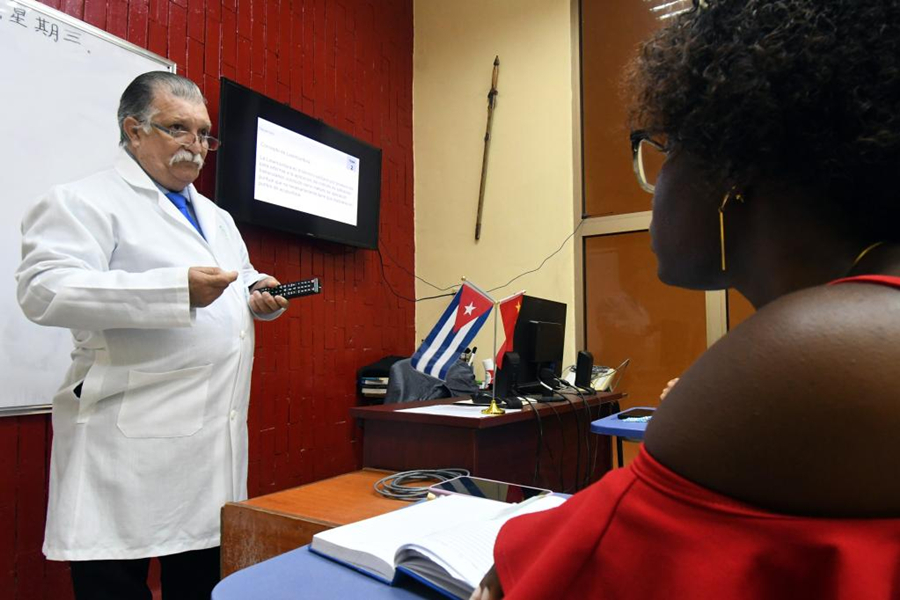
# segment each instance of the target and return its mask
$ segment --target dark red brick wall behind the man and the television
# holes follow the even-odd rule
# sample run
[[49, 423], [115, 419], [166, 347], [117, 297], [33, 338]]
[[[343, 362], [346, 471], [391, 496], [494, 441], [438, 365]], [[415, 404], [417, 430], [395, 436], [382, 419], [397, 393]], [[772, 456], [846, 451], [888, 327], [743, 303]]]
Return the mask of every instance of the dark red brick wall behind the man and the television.
[[[382, 148], [385, 275], [413, 296], [412, 0], [43, 1], [175, 61], [208, 97], [213, 123], [225, 75]], [[214, 181], [210, 166], [200, 191], [212, 196]], [[256, 496], [360, 466], [347, 410], [355, 371], [412, 353], [415, 308], [384, 284], [376, 252], [241, 231], [257, 269], [282, 281], [319, 277], [324, 288], [257, 326]], [[0, 600], [71, 597], [66, 566], [40, 552], [50, 438], [47, 415], [0, 419]]]

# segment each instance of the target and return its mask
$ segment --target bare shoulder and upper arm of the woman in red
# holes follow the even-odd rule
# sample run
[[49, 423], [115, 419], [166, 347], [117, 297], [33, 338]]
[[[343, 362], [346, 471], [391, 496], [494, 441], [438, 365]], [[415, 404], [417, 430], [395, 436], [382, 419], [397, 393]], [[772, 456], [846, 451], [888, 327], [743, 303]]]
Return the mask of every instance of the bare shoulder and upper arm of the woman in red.
[[663, 402], [647, 449], [688, 479], [810, 515], [900, 516], [900, 289], [811, 288], [710, 348]]

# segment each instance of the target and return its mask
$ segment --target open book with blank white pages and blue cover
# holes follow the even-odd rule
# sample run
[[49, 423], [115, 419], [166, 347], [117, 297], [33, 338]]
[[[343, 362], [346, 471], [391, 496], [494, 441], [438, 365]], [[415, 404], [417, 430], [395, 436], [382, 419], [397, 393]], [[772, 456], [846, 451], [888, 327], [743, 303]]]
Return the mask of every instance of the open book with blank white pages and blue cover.
[[397, 571], [456, 598], [468, 598], [494, 564], [494, 540], [506, 521], [559, 506], [541, 496], [506, 504], [449, 495], [317, 533], [310, 550], [392, 583]]

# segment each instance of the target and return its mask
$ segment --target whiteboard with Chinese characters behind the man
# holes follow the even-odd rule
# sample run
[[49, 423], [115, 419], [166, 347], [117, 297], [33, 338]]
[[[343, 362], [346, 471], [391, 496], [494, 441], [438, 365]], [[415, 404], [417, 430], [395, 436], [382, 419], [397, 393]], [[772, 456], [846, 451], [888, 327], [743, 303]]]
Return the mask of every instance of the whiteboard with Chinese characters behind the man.
[[111, 167], [125, 87], [175, 64], [30, 0], [0, 0], [0, 56], [0, 414], [21, 414], [46, 410], [74, 347], [68, 329], [31, 323], [16, 302], [25, 210]]

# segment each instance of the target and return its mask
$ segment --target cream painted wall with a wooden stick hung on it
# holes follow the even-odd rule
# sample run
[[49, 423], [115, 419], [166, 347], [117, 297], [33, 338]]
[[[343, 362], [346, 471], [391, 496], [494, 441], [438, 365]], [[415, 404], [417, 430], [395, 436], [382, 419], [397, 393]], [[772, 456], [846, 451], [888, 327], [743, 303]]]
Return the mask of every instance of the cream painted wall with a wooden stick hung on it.
[[[419, 277], [447, 287], [465, 276], [482, 289], [496, 288], [537, 268], [572, 233], [577, 224], [575, 194], [581, 186], [580, 175], [576, 177], [576, 41], [570, 0], [415, 1]], [[476, 243], [495, 55], [500, 57], [499, 95], [481, 240]], [[525, 289], [566, 303], [566, 365], [574, 362], [576, 348], [574, 269], [570, 239], [540, 271], [492, 292], [499, 300]], [[437, 293], [422, 282], [416, 284], [417, 297]], [[428, 334], [448, 302], [442, 298], [417, 304], [417, 339]], [[492, 337], [489, 320], [475, 340], [479, 377], [480, 359], [492, 354]]]

